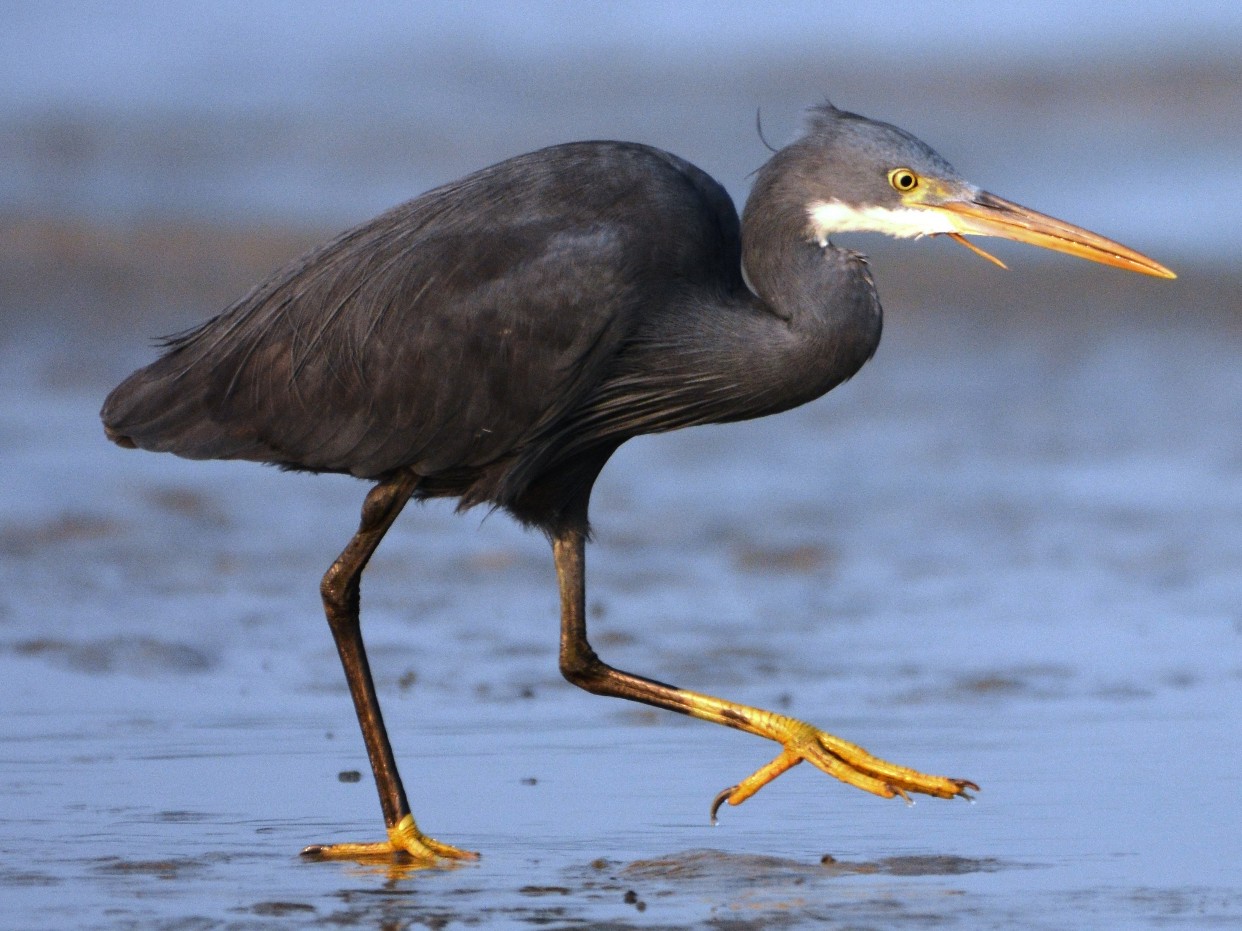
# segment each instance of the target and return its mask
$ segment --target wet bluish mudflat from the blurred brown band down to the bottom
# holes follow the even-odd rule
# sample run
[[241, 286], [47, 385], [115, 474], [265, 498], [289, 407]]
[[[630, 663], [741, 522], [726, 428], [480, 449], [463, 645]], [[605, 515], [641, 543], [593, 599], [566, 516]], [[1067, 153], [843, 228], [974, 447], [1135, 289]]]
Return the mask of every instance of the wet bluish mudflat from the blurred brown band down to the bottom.
[[483, 859], [402, 871], [296, 855], [380, 832], [317, 597], [365, 487], [120, 451], [96, 415], [144, 335], [317, 235], [2, 231], [0, 925], [1242, 920], [1230, 269], [878, 245], [886, 335], [857, 379], [604, 473], [605, 658], [972, 778], [974, 804], [800, 767], [712, 827], [774, 747], [573, 689], [545, 542], [412, 508], [364, 629], [421, 825]]

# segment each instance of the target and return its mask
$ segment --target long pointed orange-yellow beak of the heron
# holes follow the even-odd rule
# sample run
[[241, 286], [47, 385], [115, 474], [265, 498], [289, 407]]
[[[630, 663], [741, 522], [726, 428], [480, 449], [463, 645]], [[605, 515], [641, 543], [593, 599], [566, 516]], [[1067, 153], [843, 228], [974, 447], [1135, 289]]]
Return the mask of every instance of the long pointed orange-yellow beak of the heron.
[[[1006, 240], [1028, 242], [1046, 250], [1067, 252], [1071, 256], [1102, 262], [1107, 266], [1141, 272], [1158, 278], [1176, 278], [1159, 262], [1126, 248], [1119, 242], [1105, 240], [1081, 226], [1072, 226], [1062, 220], [1037, 214], [1004, 197], [987, 191], [977, 191], [969, 200], [949, 200], [943, 204], [928, 205], [930, 210], [943, 211], [956, 233], [949, 233], [955, 240], [968, 245], [975, 252], [976, 246], [960, 240], [968, 236], [1002, 236]], [[991, 258], [991, 256], [985, 257]], [[996, 259], [992, 259], [996, 261]]]

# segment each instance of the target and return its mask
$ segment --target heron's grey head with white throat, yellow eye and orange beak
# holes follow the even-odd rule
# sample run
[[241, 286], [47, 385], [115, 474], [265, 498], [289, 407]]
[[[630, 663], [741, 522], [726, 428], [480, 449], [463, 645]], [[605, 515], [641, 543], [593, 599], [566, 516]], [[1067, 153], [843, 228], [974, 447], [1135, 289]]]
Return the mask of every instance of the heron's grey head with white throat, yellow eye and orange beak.
[[809, 235], [821, 245], [837, 232], [897, 237], [946, 235], [1005, 264], [966, 236], [1000, 236], [1160, 278], [1176, 276], [1159, 262], [1103, 236], [997, 197], [963, 179], [935, 150], [887, 123], [838, 110], [811, 110], [795, 144], [809, 163], [800, 173]]

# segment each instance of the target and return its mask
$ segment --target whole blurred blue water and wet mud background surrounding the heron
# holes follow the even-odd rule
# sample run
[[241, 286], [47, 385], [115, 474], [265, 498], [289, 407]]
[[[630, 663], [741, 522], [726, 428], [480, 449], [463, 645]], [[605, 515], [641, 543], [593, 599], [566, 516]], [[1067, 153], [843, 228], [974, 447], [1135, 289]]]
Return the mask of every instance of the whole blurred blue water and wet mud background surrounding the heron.
[[[391, 876], [292, 860], [378, 829], [315, 587], [363, 487], [108, 446], [99, 403], [152, 338], [559, 142], [666, 148], [740, 206], [756, 113], [780, 145], [826, 98], [1180, 278], [842, 237], [873, 257], [876, 360], [790, 415], [627, 444], [592, 623], [625, 668], [792, 708], [982, 802], [908, 813], [796, 772], [705, 833], [768, 749], [574, 693], [545, 544], [433, 504], [369, 570], [365, 626], [420, 821], [489, 859], [420, 878], [420, 907], [640, 921], [638, 888], [667, 926], [1242, 916], [1242, 5], [10, 0], [0, 917], [430, 920]], [[696, 848], [724, 853], [635, 865]]]

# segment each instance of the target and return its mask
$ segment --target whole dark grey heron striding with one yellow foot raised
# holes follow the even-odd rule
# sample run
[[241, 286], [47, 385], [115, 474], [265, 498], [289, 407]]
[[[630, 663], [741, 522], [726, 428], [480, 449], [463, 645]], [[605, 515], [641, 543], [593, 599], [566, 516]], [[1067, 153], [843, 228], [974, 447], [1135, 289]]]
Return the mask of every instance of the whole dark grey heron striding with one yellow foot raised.
[[600, 470], [627, 439], [763, 417], [853, 376], [881, 338], [872, 231], [996, 236], [1163, 278], [1158, 262], [989, 194], [888, 123], [809, 110], [724, 187], [650, 145], [580, 142], [510, 158], [344, 232], [224, 313], [168, 338], [102, 418], [127, 448], [248, 459], [373, 483], [320, 583], [374, 771], [386, 839], [313, 858], [473, 859], [416, 824], [363, 643], [360, 577], [410, 499], [501, 509], [550, 541], [561, 674], [590, 693], [765, 737], [777, 756], [712, 803], [740, 804], [802, 761], [876, 796], [977, 786], [887, 762], [789, 715], [609, 665], [586, 631], [585, 546]]

